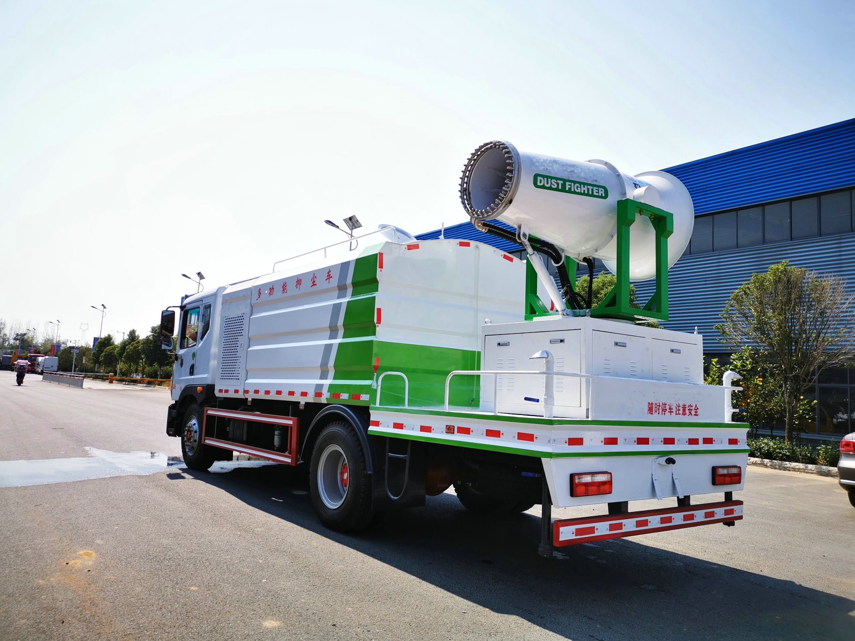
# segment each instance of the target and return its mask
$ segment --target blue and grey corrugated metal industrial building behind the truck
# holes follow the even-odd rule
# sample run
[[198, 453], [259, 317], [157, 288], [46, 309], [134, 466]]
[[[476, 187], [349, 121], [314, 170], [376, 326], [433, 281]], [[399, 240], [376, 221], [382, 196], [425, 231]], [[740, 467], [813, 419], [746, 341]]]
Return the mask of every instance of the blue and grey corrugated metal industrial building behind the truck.
[[[669, 270], [663, 325], [683, 332], [697, 327], [708, 356], [728, 353], [714, 326], [730, 294], [776, 262], [839, 274], [855, 291], [855, 119], [663, 171], [686, 185], [695, 211], [689, 247]], [[440, 233], [524, 256], [519, 245], [478, 232], [469, 221], [417, 238]], [[654, 282], [634, 285], [644, 301]], [[855, 368], [823, 372], [813, 395], [817, 420], [805, 436], [840, 438], [855, 430]]]

